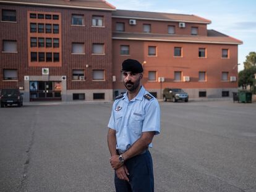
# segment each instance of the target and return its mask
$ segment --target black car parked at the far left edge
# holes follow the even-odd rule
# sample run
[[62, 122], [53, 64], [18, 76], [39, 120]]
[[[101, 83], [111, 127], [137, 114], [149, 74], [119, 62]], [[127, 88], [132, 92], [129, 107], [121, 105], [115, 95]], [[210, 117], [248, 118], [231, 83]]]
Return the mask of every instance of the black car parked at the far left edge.
[[1, 107], [17, 104], [18, 107], [23, 106], [23, 93], [19, 89], [2, 89], [0, 95]]

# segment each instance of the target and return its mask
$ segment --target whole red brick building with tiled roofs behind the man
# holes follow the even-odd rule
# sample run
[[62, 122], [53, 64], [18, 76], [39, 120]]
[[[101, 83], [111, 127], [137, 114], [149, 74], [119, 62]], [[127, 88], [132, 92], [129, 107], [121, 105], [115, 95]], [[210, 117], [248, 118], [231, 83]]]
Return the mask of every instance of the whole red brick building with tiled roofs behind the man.
[[[112, 100], [124, 91], [121, 62], [143, 63], [143, 85], [190, 98], [237, 90], [237, 45], [195, 15], [116, 10], [106, 1], [1, 1], [0, 88], [25, 101]], [[161, 80], [161, 81], [160, 81]]]

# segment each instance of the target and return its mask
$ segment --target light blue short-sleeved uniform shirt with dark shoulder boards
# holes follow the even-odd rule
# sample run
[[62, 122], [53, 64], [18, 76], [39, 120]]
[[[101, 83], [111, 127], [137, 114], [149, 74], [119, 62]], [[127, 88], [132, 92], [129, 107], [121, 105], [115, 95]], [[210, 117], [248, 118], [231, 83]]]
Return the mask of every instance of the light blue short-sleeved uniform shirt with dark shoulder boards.
[[[137, 96], [130, 100], [127, 92], [114, 101], [108, 127], [116, 130], [116, 148], [127, 150], [137, 141], [142, 132], [160, 133], [160, 107], [157, 99], [144, 98], [148, 91], [140, 88]], [[152, 143], [149, 144], [152, 148]]]

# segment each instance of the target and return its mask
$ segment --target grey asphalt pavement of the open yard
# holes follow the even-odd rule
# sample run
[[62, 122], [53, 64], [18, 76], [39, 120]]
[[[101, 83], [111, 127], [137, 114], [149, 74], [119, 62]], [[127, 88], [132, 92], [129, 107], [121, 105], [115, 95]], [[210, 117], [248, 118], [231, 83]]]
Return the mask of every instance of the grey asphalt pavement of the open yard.
[[[0, 109], [0, 191], [114, 191], [111, 102]], [[256, 191], [256, 103], [160, 102], [155, 191]]]

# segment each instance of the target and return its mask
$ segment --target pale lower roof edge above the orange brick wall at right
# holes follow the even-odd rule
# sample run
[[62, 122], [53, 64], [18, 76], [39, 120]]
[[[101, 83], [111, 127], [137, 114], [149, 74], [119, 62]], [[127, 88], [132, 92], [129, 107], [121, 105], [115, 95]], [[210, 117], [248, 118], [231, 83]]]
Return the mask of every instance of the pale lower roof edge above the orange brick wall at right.
[[122, 38], [112, 37], [113, 40], [137, 40], [137, 41], [166, 41], [166, 42], [182, 42], [182, 43], [207, 43], [207, 44], [242, 44], [233, 42], [221, 42], [221, 41], [191, 41], [191, 40], [163, 40], [163, 39], [148, 39], [148, 38]]

